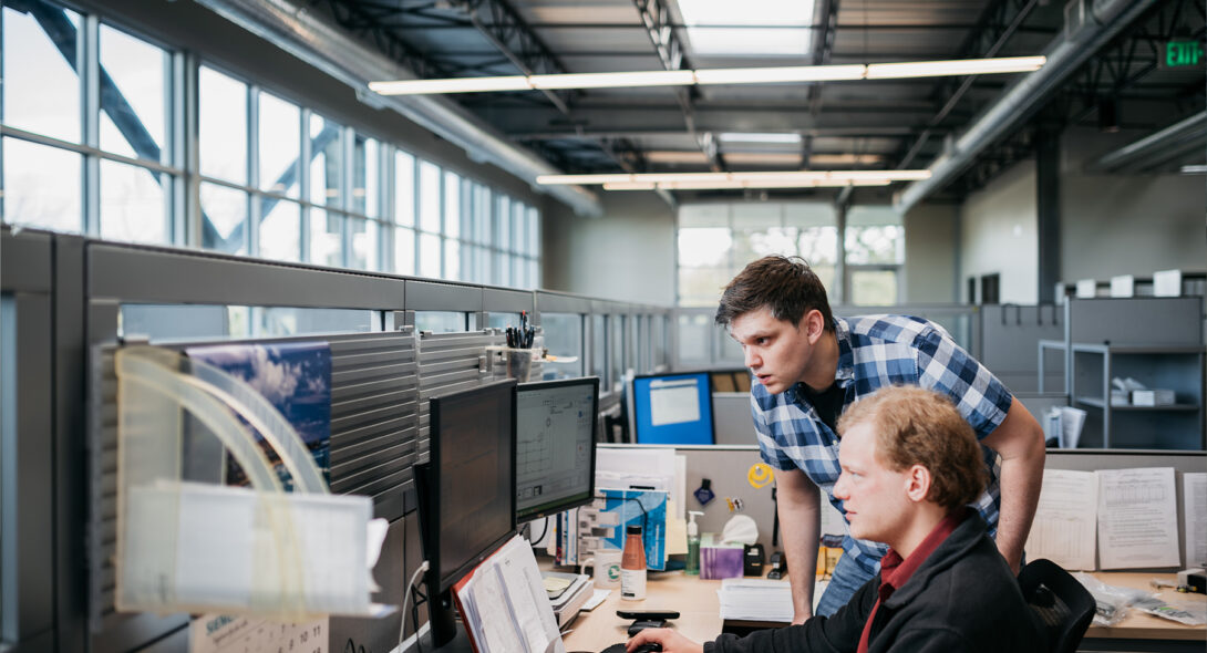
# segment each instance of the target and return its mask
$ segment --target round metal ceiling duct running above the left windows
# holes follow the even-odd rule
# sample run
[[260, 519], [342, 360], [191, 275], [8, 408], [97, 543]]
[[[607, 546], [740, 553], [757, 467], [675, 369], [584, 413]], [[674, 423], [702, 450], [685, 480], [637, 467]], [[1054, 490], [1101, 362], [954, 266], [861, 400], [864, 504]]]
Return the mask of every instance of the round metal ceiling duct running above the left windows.
[[[466, 151], [533, 185], [538, 175], [559, 174], [535, 153], [511, 142], [459, 104], [442, 97], [384, 98], [369, 80], [415, 78], [414, 72], [361, 45], [339, 29], [285, 0], [197, 0], [226, 19], [356, 89], [366, 104], [389, 107]], [[602, 215], [599, 198], [578, 186], [542, 188], [576, 212]]]

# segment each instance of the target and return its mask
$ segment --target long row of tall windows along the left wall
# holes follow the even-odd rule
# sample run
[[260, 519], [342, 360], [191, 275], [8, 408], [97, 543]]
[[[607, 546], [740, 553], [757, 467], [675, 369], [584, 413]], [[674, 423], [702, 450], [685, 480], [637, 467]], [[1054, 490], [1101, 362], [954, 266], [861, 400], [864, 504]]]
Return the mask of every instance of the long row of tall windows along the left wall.
[[[0, 5], [0, 220], [328, 267], [538, 282], [540, 214], [520, 199], [319, 113], [304, 97], [239, 78], [204, 52], [189, 64], [104, 8], [40, 5]], [[179, 75], [186, 65], [196, 75]], [[92, 87], [95, 98], [81, 91]], [[191, 97], [196, 124], [179, 101]], [[197, 150], [174, 151], [181, 146]], [[186, 223], [193, 216], [200, 225]]]

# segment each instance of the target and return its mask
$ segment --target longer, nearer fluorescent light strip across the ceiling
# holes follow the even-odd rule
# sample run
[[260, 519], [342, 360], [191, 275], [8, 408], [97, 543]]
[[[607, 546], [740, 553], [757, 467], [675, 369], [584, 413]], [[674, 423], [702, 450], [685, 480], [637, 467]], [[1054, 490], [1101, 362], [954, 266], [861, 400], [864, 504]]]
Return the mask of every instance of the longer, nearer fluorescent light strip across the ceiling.
[[1043, 68], [1045, 57], [1001, 57], [946, 62], [902, 62], [892, 64], [807, 65], [780, 68], [727, 68], [712, 70], [648, 70], [635, 72], [583, 72], [568, 75], [512, 75], [506, 77], [454, 77], [448, 80], [401, 80], [369, 82], [383, 95], [428, 95], [435, 93], [484, 93], [565, 88], [636, 88], [649, 86], [710, 86], [750, 83], [828, 82], [844, 80], [897, 80], [1031, 72]]

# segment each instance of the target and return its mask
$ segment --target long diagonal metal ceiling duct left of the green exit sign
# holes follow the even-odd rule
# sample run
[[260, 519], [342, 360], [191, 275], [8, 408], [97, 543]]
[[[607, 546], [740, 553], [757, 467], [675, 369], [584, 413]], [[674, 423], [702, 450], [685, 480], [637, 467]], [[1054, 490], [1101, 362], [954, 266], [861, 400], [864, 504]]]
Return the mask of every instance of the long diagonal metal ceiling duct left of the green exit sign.
[[931, 179], [915, 181], [894, 198], [899, 212], [910, 210], [972, 165], [976, 154], [1042, 107], [1042, 103], [1120, 30], [1155, 0], [1073, 0], [1065, 12], [1065, 31], [1043, 52], [1044, 68], [1028, 72], [978, 116], [950, 148], [931, 164]]

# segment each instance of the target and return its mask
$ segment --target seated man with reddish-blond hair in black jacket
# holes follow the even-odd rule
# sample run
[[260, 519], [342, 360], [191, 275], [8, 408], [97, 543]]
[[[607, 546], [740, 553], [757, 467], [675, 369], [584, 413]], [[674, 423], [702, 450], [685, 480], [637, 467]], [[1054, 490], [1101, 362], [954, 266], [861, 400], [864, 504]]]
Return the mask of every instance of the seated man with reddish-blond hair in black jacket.
[[851, 535], [890, 546], [880, 573], [832, 617], [722, 635], [702, 647], [671, 629], [643, 630], [634, 651], [669, 653], [1043, 651], [1018, 581], [967, 507], [985, 486], [973, 430], [951, 402], [920, 387], [885, 387], [839, 420], [842, 500]]

